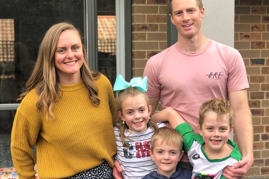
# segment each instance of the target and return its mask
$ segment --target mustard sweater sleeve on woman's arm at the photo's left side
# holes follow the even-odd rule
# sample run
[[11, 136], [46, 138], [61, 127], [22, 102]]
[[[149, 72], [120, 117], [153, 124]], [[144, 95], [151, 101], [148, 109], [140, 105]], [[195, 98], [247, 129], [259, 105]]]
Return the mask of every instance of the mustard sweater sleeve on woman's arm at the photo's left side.
[[[35, 145], [39, 130], [17, 109], [11, 133], [11, 154], [20, 179], [35, 179], [36, 157], [31, 147]], [[30, 115], [28, 115], [30, 116]]]

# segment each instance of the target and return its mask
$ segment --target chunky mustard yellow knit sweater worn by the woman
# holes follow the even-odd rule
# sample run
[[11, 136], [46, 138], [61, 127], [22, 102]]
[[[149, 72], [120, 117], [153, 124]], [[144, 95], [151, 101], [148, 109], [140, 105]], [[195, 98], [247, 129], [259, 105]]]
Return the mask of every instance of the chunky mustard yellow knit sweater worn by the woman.
[[101, 75], [95, 84], [100, 105], [92, 105], [83, 80], [61, 85], [62, 98], [52, 107], [56, 119], [46, 120], [37, 110], [38, 95], [29, 92], [17, 109], [11, 134], [11, 153], [20, 179], [40, 179], [75, 175], [107, 161], [113, 167], [116, 142], [112, 119], [116, 105], [109, 80]]

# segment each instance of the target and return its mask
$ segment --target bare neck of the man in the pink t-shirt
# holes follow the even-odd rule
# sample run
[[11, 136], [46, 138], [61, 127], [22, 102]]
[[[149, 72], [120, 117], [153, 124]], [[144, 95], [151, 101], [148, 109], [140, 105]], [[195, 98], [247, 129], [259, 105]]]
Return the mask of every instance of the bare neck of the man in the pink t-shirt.
[[209, 39], [204, 35], [200, 35], [200, 37], [191, 37], [191, 38], [183, 38], [179, 36], [177, 45], [180, 49], [185, 52], [199, 52], [201, 51], [209, 42]]

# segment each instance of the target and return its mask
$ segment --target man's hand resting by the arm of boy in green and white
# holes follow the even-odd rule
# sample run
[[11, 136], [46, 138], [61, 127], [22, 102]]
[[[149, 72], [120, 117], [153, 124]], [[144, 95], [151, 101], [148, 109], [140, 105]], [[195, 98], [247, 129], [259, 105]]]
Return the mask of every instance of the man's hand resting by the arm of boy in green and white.
[[223, 176], [227, 179], [240, 179], [244, 177], [253, 163], [253, 156], [243, 157], [241, 161], [234, 164], [235, 168], [227, 166], [223, 169]]

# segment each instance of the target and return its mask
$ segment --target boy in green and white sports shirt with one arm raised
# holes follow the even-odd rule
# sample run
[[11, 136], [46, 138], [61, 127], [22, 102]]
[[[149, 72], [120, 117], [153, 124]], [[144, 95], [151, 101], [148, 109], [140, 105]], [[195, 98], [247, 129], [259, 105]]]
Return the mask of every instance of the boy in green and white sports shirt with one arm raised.
[[183, 147], [193, 166], [192, 179], [223, 179], [223, 168], [233, 167], [242, 158], [237, 145], [229, 139], [233, 129], [232, 113], [225, 99], [204, 102], [199, 110], [200, 135], [193, 133], [190, 125], [172, 107], [153, 117], [158, 122], [168, 119], [171, 126], [183, 135]]

